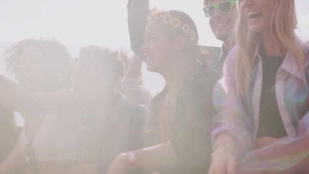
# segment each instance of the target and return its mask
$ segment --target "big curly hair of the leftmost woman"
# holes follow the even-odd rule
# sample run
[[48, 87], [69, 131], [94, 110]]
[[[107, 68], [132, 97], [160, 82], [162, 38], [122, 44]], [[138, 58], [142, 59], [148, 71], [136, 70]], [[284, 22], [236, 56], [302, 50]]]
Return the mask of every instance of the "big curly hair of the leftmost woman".
[[15, 80], [19, 81], [20, 77], [20, 57], [23, 51], [29, 48], [35, 49], [40, 55], [39, 64], [44, 69], [44, 72], [41, 73], [45, 75], [48, 88], [58, 88], [59, 77], [65, 77], [65, 83], [69, 84], [71, 56], [65, 45], [54, 39], [26, 39], [13, 44], [5, 51], [4, 57], [8, 64], [7, 71]]

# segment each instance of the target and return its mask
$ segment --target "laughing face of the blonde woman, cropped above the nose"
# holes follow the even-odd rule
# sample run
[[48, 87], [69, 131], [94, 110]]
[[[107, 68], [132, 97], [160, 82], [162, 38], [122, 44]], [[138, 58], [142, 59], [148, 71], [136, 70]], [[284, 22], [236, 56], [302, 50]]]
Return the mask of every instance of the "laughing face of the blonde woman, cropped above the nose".
[[270, 31], [275, 0], [240, 0], [239, 8], [252, 33]]

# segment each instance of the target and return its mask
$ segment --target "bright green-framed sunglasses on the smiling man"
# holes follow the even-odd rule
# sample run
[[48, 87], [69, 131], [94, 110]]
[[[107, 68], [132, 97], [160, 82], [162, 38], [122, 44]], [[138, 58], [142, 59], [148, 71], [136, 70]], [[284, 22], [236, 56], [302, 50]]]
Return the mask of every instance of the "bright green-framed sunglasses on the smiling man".
[[233, 9], [233, 6], [236, 4], [236, 1], [225, 1], [219, 4], [209, 5], [203, 8], [206, 17], [211, 17], [215, 9], [218, 9], [220, 13], [227, 14], [230, 13]]

